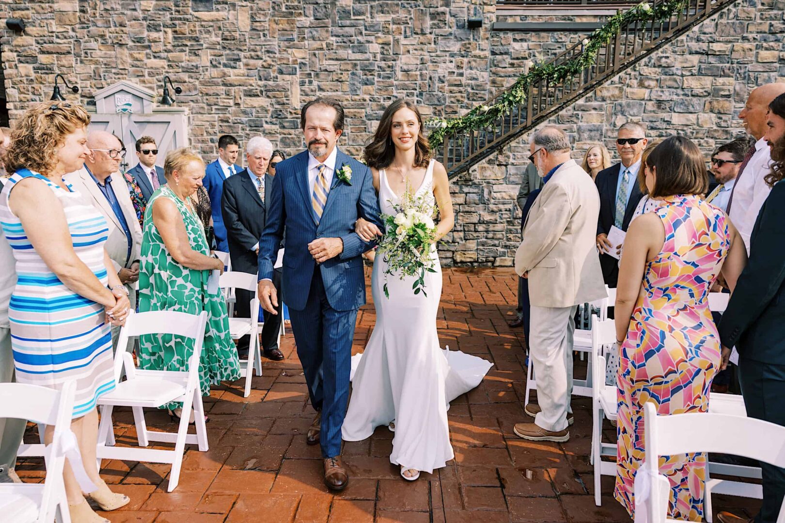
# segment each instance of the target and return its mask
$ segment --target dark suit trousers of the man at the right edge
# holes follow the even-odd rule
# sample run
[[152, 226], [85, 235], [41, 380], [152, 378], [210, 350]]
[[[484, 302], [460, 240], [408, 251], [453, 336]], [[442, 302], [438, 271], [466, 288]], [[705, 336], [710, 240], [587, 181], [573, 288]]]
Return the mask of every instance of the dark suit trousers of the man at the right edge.
[[[747, 416], [785, 427], [785, 365], [739, 356], [739, 382]], [[785, 496], [785, 469], [761, 462], [763, 503], [755, 523], [774, 523]]]

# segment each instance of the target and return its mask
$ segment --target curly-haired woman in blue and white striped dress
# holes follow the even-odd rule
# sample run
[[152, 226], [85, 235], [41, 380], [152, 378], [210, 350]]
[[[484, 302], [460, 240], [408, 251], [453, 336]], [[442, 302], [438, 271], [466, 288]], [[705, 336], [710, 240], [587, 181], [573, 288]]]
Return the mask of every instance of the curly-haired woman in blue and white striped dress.
[[[76, 382], [71, 430], [98, 487], [88, 496], [114, 510], [130, 499], [98, 474], [96, 401], [115, 388], [109, 329], [125, 321], [129, 301], [104, 250], [107, 223], [63, 181], [89, 154], [88, 124], [84, 108], [67, 102], [35, 104], [16, 122], [0, 225], [18, 278], [9, 304], [16, 381], [53, 389]], [[47, 427], [47, 441], [52, 433]], [[108, 521], [86, 503], [68, 463], [64, 479], [74, 523]]]

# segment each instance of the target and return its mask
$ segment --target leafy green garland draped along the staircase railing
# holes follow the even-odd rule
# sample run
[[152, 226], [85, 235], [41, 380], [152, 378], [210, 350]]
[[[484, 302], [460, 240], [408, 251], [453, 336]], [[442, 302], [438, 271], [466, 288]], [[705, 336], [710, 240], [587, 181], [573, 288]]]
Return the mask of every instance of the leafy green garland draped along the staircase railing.
[[686, 0], [667, 0], [652, 8], [648, 2], [641, 2], [625, 12], [616, 13], [608, 18], [605, 24], [595, 29], [582, 42], [582, 52], [564, 62], [564, 64], [539, 64], [532, 66], [527, 73], [520, 74], [516, 81], [491, 106], [480, 105], [458, 118], [435, 118], [429, 125], [435, 127], [428, 136], [431, 148], [435, 150], [444, 142], [444, 137], [463, 133], [471, 129], [487, 129], [494, 122], [509, 114], [513, 108], [526, 102], [528, 87], [541, 80], [551, 85], [573, 78], [576, 74], [592, 66], [597, 60], [597, 53], [604, 49], [619, 29], [634, 22], [659, 22], [684, 9]]

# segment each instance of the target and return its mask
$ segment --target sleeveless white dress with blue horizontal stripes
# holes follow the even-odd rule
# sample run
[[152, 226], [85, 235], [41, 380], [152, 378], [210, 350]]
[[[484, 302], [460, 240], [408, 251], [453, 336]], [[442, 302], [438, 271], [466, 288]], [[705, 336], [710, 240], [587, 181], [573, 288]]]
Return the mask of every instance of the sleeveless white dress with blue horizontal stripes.
[[71, 185], [65, 191], [29, 169], [16, 172], [0, 193], [0, 223], [16, 259], [16, 288], [9, 303], [11, 347], [16, 381], [53, 389], [75, 380], [73, 418], [95, 409], [100, 396], [114, 390], [110, 325], [104, 306], [68, 289], [35, 252], [24, 228], [8, 206], [13, 187], [24, 178], [42, 180], [63, 205], [76, 256], [108, 284], [104, 216], [82, 201]]

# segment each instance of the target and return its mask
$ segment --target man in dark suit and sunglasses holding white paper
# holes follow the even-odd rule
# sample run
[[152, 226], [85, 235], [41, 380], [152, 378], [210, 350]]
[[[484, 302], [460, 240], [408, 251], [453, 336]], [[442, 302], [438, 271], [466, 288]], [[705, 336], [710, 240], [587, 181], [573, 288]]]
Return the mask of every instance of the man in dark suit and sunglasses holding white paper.
[[600, 250], [600, 264], [605, 285], [615, 288], [619, 279], [619, 260], [608, 254], [611, 249], [618, 251], [620, 245], [608, 242], [612, 226], [622, 231], [630, 226], [635, 208], [643, 198], [638, 187], [637, 173], [642, 169], [641, 154], [646, 148], [646, 131], [643, 125], [627, 122], [619, 127], [616, 151], [621, 162], [597, 173], [597, 191], [600, 192], [600, 218], [597, 220], [597, 249]]

